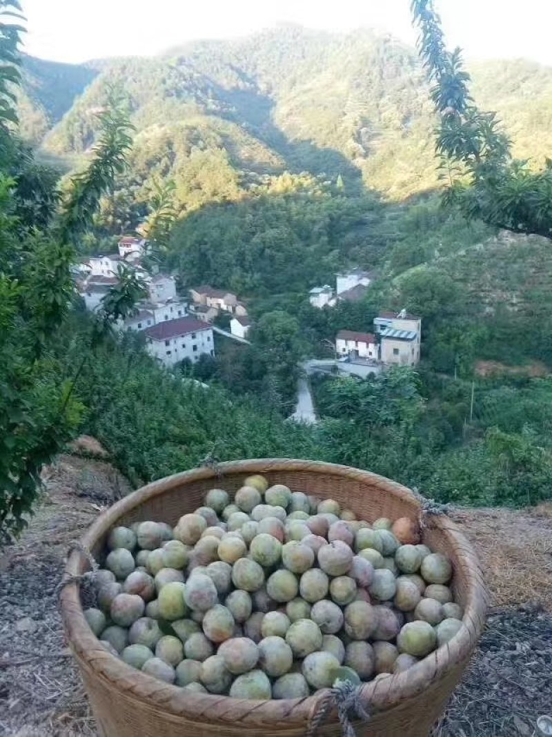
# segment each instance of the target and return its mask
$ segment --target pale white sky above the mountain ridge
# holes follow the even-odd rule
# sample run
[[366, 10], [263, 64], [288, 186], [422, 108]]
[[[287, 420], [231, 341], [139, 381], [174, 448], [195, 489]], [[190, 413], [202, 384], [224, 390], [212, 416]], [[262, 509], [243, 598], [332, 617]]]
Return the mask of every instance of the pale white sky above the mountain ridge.
[[[153, 55], [197, 38], [247, 35], [279, 22], [372, 27], [414, 43], [410, 0], [22, 0], [25, 51], [57, 61]], [[467, 57], [552, 66], [552, 0], [436, 0], [450, 45]]]

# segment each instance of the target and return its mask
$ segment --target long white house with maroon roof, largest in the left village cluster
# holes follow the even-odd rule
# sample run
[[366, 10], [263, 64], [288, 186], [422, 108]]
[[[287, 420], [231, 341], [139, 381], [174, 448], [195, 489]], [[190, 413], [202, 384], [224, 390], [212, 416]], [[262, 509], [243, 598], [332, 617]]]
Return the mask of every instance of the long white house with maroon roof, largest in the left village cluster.
[[214, 356], [213, 330], [206, 323], [185, 317], [148, 327], [145, 331], [147, 351], [164, 366], [174, 366], [200, 355]]

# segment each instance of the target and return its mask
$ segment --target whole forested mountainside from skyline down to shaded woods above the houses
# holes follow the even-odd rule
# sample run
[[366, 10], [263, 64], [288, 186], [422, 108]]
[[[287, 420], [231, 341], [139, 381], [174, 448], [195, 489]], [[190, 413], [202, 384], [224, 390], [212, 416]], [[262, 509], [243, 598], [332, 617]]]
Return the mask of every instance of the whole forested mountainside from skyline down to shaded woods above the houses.
[[[82, 160], [95, 111], [108, 88], [119, 90], [134, 146], [90, 248], [142, 223], [156, 186], [174, 184], [181, 222], [167, 261], [184, 285], [301, 292], [345, 263], [396, 276], [493, 232], [436, 222], [423, 203], [410, 214], [405, 198], [438, 183], [435, 118], [416, 52], [393, 38], [280, 27], [156, 58], [26, 66], [24, 94], [43, 91], [32, 109], [21, 98], [27, 138], [66, 111], [43, 138], [49, 156]], [[503, 118], [514, 153], [542, 160], [552, 144], [552, 71], [516, 60], [472, 72], [476, 99]], [[83, 94], [73, 102], [74, 92]]]

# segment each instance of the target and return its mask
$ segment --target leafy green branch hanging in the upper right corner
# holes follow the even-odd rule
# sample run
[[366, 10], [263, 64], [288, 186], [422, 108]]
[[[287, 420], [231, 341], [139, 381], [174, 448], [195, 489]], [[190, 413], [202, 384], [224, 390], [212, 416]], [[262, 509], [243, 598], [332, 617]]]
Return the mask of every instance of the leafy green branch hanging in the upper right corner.
[[447, 181], [444, 203], [473, 220], [552, 239], [552, 161], [535, 170], [514, 159], [496, 113], [481, 111], [469, 92], [460, 49], [447, 49], [433, 0], [412, 0], [419, 54], [440, 122], [436, 154]]

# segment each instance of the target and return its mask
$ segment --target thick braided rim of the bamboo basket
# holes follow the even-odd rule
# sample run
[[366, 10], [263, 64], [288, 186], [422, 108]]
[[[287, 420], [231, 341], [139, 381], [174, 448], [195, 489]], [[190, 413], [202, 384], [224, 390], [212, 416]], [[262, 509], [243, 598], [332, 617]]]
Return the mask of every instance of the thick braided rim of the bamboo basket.
[[[92, 548], [97, 539], [105, 535], [122, 515], [141, 506], [147, 500], [163, 495], [164, 492], [175, 486], [209, 479], [219, 482], [220, 477], [225, 475], [278, 471], [311, 471], [348, 478], [360, 483], [369, 483], [370, 486], [398, 496], [405, 503], [413, 506], [413, 509], [422, 510], [419, 498], [408, 487], [370, 471], [330, 464], [325, 461], [256, 458], [245, 461], [226, 461], [217, 464], [216, 467], [190, 469], [148, 483], [102, 512], [80, 538], [80, 544], [87, 549]], [[464, 663], [469, 658], [483, 630], [488, 595], [483, 583], [481, 567], [472, 545], [458, 526], [445, 515], [432, 517], [432, 526], [439, 528], [447, 539], [447, 543], [455, 548], [463, 569], [467, 585], [464, 627], [449, 643], [430, 653], [408, 671], [366, 683], [362, 689], [362, 696], [374, 710], [385, 710], [413, 698], [443, 677], [453, 666]], [[82, 552], [78, 550], [71, 552], [66, 564], [66, 576], [78, 576], [89, 569], [88, 560]], [[307, 724], [312, 715], [317, 712], [321, 699], [327, 692], [325, 689], [304, 699], [272, 699], [259, 702], [184, 691], [179, 686], [161, 682], [128, 666], [99, 644], [99, 639], [85, 620], [77, 583], [70, 583], [63, 587], [60, 595], [60, 609], [66, 638], [79, 665], [85, 671], [91, 671], [94, 677], [102, 680], [105, 685], [110, 688], [122, 688], [127, 694], [130, 692], [153, 710], [163, 710], [174, 716], [186, 717], [186, 719], [198, 722], [205, 715], [211, 721], [213, 719], [219, 722], [241, 721], [244, 725], [249, 724], [250, 726], [253, 724], [267, 726], [270, 723], [284, 720]]]

